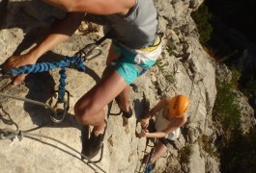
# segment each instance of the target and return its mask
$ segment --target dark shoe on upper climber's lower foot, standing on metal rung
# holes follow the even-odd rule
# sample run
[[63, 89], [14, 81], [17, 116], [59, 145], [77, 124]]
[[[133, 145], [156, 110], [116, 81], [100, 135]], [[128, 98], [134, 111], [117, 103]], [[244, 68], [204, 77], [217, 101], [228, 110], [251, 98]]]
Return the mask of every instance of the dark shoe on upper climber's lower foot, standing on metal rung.
[[91, 133], [91, 136], [87, 142], [87, 145], [83, 144], [82, 146], [82, 154], [87, 158], [81, 157], [82, 160], [88, 159], [91, 160], [100, 152], [101, 147], [103, 146], [103, 139], [106, 132], [107, 122], [105, 120], [106, 126], [104, 129], [104, 133], [96, 136], [95, 133]]

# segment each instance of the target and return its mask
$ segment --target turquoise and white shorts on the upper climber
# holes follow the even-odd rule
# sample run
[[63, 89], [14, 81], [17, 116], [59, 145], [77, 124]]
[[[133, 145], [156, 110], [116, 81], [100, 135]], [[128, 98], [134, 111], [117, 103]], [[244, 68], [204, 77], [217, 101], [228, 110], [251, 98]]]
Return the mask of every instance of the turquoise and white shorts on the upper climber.
[[115, 70], [131, 84], [137, 77], [144, 74], [152, 67], [161, 54], [161, 45], [157, 44], [154, 50], [150, 49], [129, 49], [120, 44], [113, 43], [114, 52], [121, 57], [111, 62]]

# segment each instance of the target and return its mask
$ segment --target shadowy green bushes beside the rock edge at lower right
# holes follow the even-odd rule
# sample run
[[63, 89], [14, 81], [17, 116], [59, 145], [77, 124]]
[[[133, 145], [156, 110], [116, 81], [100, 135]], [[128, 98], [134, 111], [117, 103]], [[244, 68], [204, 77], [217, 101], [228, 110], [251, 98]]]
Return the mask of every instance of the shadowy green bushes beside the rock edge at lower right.
[[[217, 82], [213, 121], [222, 129], [223, 134], [217, 137], [215, 143], [220, 156], [221, 172], [252, 173], [256, 170], [256, 127], [252, 128], [248, 134], [242, 134], [241, 110], [237, 103], [238, 94], [234, 92], [241, 73], [233, 69], [232, 74], [230, 82]], [[205, 150], [208, 151], [208, 149]]]

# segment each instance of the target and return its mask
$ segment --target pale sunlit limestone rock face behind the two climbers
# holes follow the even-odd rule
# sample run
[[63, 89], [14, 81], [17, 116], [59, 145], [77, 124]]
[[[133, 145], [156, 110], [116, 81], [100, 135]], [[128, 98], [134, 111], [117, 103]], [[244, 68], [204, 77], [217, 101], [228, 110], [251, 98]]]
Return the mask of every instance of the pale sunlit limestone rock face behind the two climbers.
[[[1, 63], [13, 55], [23, 54], [31, 49], [45, 36], [53, 21], [65, 16], [65, 12], [44, 4], [43, 1], [0, 2], [1, 17], [3, 16], [0, 23]], [[201, 136], [210, 136], [213, 139], [215, 136], [212, 122], [216, 94], [215, 64], [200, 45], [196, 26], [190, 17], [190, 12], [197, 9], [202, 2], [155, 0], [159, 12], [159, 32], [163, 34], [163, 52], [156, 65], [134, 82], [137, 89], [130, 91], [133, 116], [128, 120], [120, 115], [110, 115], [107, 118], [108, 127], [100, 162], [95, 165], [80, 161], [77, 152], [81, 151], [81, 137], [84, 136], [85, 128], [75, 120], [73, 106], [100, 81], [110, 40], [101, 45], [100, 58], [85, 63], [85, 73], [67, 69], [67, 90], [71, 95], [70, 110], [64, 122], [47, 123], [33, 131], [39, 136], [20, 136], [20, 141], [17, 138], [0, 140], [0, 169], [3, 172], [39, 173], [138, 171], [146, 139], [135, 136], [139, 129], [137, 119], [147, 111], [147, 107], [155, 106], [163, 95], [172, 97], [185, 94], [191, 103], [187, 112], [188, 122], [170, 152], [156, 162], [154, 172], [219, 172], [217, 159], [207, 155], [198, 142]], [[72, 56], [100, 36], [101, 30], [86, 36], [77, 31], [69, 40], [43, 55], [41, 61], [54, 62], [64, 59], [65, 56]], [[12, 86], [4, 92], [50, 104], [55, 99], [52, 98], [52, 90], [58, 89], [58, 85], [59, 69], [54, 69], [29, 74], [24, 84]], [[106, 107], [105, 111], [109, 111], [109, 108]], [[116, 103], [113, 102], [111, 112], [118, 111]], [[51, 111], [38, 105], [1, 97], [0, 129], [30, 130], [46, 123], [50, 113]], [[187, 143], [190, 143], [189, 146]], [[185, 147], [190, 154], [181, 152], [186, 151]], [[99, 159], [100, 155], [94, 160]]]

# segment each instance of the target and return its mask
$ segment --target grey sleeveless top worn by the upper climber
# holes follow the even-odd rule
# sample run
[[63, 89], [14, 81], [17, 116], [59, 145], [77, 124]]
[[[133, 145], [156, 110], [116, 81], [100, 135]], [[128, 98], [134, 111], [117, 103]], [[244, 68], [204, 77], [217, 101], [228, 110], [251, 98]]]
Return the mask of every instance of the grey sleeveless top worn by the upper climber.
[[141, 48], [156, 37], [157, 13], [153, 0], [136, 0], [128, 16], [111, 14], [106, 16], [117, 40], [129, 48]]

